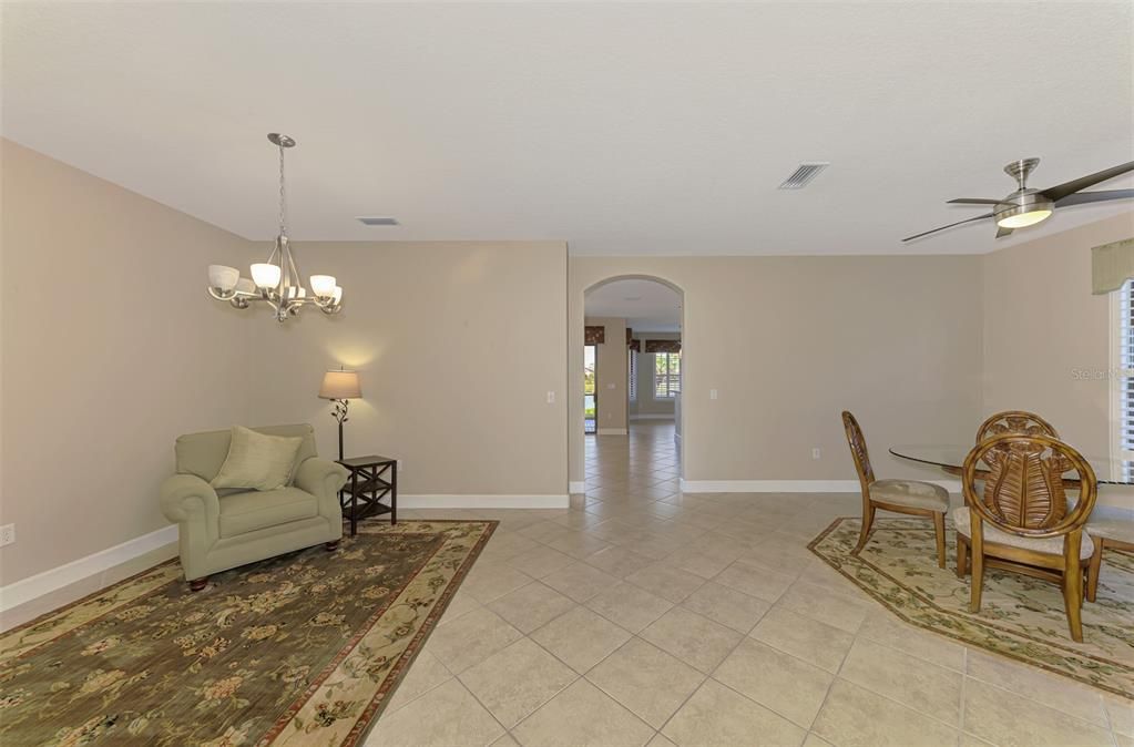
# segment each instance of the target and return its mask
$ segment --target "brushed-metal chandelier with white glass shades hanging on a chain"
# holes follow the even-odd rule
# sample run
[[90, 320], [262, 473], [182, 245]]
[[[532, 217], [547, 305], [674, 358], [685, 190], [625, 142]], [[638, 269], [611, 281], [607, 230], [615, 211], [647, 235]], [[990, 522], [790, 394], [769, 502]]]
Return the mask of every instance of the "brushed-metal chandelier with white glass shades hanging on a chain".
[[295, 141], [279, 133], [271, 133], [268, 139], [280, 150], [280, 230], [276, 245], [266, 261], [251, 266], [251, 280], [242, 278], [236, 268], [209, 265], [209, 295], [217, 300], [227, 300], [236, 308], [247, 308], [253, 302], [264, 302], [272, 308], [277, 322], [286, 322], [288, 316], [298, 316], [304, 304], [314, 304], [324, 314], [338, 314], [342, 311], [342, 288], [337, 285], [333, 275], [311, 275], [308, 296], [287, 237], [284, 150], [294, 147]]

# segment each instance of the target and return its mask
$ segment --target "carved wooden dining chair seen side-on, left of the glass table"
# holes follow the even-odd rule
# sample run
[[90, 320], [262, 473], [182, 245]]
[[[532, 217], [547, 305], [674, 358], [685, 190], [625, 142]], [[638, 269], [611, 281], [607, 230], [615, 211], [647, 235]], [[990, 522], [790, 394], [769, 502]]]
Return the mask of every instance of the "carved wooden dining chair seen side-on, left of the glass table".
[[945, 512], [949, 510], [949, 491], [940, 485], [916, 479], [874, 479], [866, 439], [862, 434], [858, 421], [846, 410], [843, 411], [843, 428], [846, 431], [847, 444], [850, 447], [850, 456], [854, 457], [854, 466], [858, 472], [858, 484], [862, 486], [862, 529], [853, 554], [858, 554], [866, 546], [874, 524], [874, 511], [882, 509], [933, 519], [933, 530], [937, 533], [937, 565], [945, 568]]

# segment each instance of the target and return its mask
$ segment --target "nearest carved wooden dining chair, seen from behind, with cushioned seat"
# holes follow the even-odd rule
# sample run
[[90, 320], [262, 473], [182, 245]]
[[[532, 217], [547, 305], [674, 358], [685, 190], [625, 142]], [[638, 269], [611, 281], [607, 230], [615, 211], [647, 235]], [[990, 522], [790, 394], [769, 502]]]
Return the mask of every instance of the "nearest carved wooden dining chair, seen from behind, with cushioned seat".
[[[978, 474], [981, 461], [988, 466], [984, 475]], [[1078, 477], [1078, 501], [1069, 510], [1068, 472]], [[984, 484], [983, 495], [978, 482]], [[1082, 642], [1083, 577], [1094, 552], [1084, 525], [1098, 498], [1091, 465], [1051, 436], [1004, 433], [968, 452], [960, 486], [965, 506], [953, 510], [953, 524], [958, 576], [964, 577], [972, 553], [970, 612], [981, 610], [985, 567], [1055, 582], [1063, 587], [1070, 637]]]

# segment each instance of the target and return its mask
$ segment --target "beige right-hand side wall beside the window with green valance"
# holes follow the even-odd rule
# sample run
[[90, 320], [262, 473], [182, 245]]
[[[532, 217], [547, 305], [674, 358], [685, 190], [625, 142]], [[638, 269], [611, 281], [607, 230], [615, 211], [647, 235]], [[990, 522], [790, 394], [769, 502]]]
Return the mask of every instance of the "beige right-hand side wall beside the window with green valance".
[[1134, 212], [984, 255], [984, 413], [1040, 413], [1109, 455], [1110, 297], [1091, 295], [1091, 247], [1132, 236]]

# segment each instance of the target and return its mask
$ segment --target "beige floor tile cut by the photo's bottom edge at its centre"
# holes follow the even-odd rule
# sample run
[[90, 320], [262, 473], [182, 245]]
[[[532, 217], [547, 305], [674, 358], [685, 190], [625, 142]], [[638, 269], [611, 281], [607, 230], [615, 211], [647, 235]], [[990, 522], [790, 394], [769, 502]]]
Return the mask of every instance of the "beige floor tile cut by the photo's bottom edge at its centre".
[[649, 724], [584, 679], [511, 731], [524, 747], [641, 747], [653, 733]]

